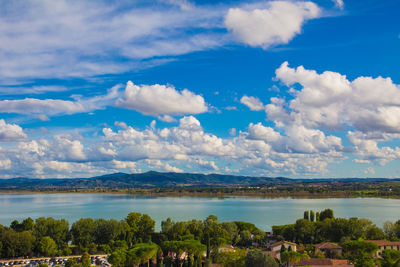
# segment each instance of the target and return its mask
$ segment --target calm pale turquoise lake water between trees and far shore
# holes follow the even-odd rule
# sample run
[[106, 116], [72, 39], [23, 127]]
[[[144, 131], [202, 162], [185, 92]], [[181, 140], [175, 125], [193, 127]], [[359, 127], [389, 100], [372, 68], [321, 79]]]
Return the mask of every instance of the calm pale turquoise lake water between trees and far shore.
[[336, 217], [368, 218], [382, 226], [400, 219], [400, 199], [336, 198], [290, 199], [246, 197], [138, 197], [111, 194], [0, 194], [0, 224], [27, 217], [82, 217], [122, 219], [131, 211], [147, 213], [156, 221], [204, 219], [210, 214], [220, 221], [242, 220], [270, 230], [272, 225], [293, 223], [304, 210], [331, 208]]

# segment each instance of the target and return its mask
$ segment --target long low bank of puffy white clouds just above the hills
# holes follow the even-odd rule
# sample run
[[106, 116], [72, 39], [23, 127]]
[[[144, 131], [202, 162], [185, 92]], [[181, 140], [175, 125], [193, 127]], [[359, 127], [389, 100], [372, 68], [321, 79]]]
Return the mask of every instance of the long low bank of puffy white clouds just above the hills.
[[143, 130], [122, 122], [115, 126], [116, 130], [104, 128], [103, 136], [90, 141], [59, 134], [20, 141], [15, 149], [0, 148], [2, 176], [88, 177], [141, 169], [182, 172], [182, 166], [219, 171], [219, 166], [232, 164], [236, 171], [253, 175], [320, 174], [328, 163], [343, 158], [339, 138], [300, 126], [281, 134], [261, 123], [250, 124], [248, 132], [228, 138], [206, 132], [193, 116], [160, 129], [155, 123]]

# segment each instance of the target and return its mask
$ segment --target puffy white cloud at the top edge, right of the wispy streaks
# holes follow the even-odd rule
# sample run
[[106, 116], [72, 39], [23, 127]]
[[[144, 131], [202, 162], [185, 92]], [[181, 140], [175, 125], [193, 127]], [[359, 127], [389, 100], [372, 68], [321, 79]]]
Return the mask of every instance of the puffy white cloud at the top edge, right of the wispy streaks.
[[313, 2], [273, 1], [266, 9], [230, 8], [225, 25], [243, 43], [267, 49], [287, 44], [301, 33], [305, 21], [319, 14]]

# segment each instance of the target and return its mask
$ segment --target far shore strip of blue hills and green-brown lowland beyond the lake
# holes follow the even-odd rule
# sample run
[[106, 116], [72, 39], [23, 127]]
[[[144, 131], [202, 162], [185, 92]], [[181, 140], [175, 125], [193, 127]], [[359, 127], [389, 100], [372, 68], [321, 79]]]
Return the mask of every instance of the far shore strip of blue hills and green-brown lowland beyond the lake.
[[117, 192], [139, 195], [400, 197], [389, 179], [288, 179], [218, 174], [113, 174], [87, 179], [1, 179], [0, 191]]

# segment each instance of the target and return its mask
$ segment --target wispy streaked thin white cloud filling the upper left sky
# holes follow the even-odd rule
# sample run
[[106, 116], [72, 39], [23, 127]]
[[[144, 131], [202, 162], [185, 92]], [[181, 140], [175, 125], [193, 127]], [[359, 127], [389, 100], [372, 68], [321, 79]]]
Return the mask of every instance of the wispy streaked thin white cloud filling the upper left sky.
[[[1, 1], [0, 78], [89, 77], [162, 64], [226, 43], [218, 27], [224, 6], [122, 1]], [[201, 33], [189, 33], [193, 27]], [[115, 58], [118, 58], [116, 60]], [[120, 59], [124, 60], [120, 60]], [[149, 60], [150, 59], [150, 60]]]

